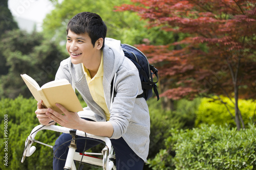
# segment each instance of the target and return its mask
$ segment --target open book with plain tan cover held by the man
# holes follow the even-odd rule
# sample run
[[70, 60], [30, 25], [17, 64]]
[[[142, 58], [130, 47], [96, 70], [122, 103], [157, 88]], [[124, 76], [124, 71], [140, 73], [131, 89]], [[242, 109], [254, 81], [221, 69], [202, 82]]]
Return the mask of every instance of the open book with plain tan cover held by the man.
[[83, 110], [76, 93], [68, 80], [55, 80], [39, 87], [37, 82], [30, 76], [26, 74], [20, 76], [22, 76], [35, 100], [37, 102], [42, 100], [42, 104], [46, 108], [52, 108], [53, 110], [61, 113], [60, 109], [55, 105], [55, 103], [59, 103], [70, 112]]

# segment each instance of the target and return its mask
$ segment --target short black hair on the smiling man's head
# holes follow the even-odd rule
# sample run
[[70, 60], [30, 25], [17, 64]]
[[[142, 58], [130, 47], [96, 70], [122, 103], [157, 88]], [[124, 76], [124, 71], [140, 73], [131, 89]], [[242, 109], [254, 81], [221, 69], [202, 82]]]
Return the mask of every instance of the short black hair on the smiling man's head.
[[88, 33], [92, 40], [93, 47], [99, 38], [103, 38], [102, 48], [104, 47], [107, 28], [98, 14], [92, 12], [81, 12], [76, 14], [68, 23], [66, 30], [67, 34], [69, 33], [69, 30], [75, 34]]

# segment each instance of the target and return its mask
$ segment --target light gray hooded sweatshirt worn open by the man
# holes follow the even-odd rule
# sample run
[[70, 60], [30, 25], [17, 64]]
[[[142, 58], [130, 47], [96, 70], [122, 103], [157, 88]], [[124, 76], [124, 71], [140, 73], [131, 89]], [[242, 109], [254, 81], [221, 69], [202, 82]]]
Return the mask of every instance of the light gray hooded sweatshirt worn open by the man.
[[[114, 133], [112, 139], [123, 137], [131, 149], [144, 161], [150, 144], [150, 115], [144, 98], [136, 98], [143, 92], [139, 72], [131, 60], [124, 56], [121, 42], [106, 38], [103, 48], [103, 90]], [[115, 79], [114, 79], [115, 77]], [[81, 64], [71, 59], [60, 63], [56, 80], [67, 79], [81, 94], [88, 107], [78, 112], [80, 117], [97, 122], [106, 121], [104, 111], [94, 102]], [[114, 81], [116, 96], [111, 100], [111, 82]]]

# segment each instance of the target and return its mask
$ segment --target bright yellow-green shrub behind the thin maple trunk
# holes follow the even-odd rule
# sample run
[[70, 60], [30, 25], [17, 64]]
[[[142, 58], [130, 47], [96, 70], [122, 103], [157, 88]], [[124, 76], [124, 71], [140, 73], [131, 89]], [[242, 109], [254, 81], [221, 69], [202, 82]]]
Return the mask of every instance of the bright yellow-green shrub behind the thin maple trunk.
[[[234, 117], [234, 105], [228, 98], [222, 98], [227, 103], [227, 107], [230, 113]], [[250, 119], [254, 118], [255, 114], [255, 102], [252, 100], [239, 100], [238, 107], [241, 111], [244, 124], [248, 125]], [[200, 127], [201, 124], [208, 125], [225, 125], [230, 127], [236, 127], [234, 119], [231, 117], [224, 104], [219, 101], [212, 102], [212, 99], [202, 98], [201, 104], [196, 112], [197, 118], [195, 122], [196, 127]]]

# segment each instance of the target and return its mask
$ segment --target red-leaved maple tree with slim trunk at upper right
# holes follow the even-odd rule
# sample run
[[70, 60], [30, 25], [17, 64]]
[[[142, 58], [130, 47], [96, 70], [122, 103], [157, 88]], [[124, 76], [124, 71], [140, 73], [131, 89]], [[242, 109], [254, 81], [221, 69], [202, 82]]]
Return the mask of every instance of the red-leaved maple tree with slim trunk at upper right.
[[[161, 80], [169, 80], [161, 96], [225, 94], [234, 98], [238, 130], [243, 119], [238, 99], [256, 99], [256, 1], [132, 0], [117, 11], [135, 11], [148, 27], [185, 33], [175, 43], [138, 48], [157, 64]], [[173, 47], [180, 48], [174, 48]]]

